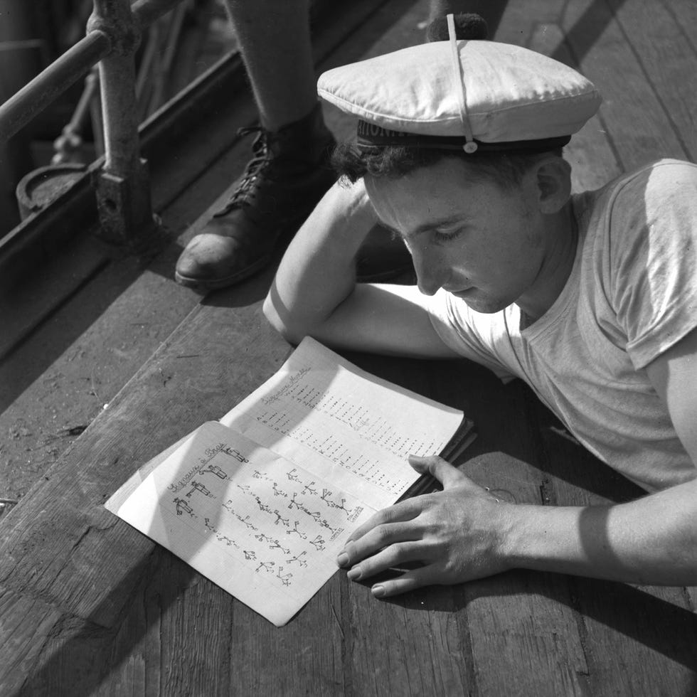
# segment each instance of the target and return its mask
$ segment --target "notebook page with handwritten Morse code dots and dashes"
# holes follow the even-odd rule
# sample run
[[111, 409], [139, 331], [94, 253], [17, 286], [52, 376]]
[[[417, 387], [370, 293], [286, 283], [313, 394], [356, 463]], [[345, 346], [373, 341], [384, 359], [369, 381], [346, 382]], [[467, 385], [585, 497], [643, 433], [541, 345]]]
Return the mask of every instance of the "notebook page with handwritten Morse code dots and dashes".
[[308, 337], [220, 422], [381, 509], [418, 477], [408, 454], [439, 453], [462, 412], [371, 376]]

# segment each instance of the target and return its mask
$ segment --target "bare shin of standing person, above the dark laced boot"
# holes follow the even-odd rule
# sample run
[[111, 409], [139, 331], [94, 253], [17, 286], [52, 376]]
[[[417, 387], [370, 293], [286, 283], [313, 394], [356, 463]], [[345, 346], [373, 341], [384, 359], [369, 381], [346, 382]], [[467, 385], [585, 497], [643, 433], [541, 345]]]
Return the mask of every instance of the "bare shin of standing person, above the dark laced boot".
[[308, 0], [226, 0], [262, 126], [297, 121], [317, 102]]

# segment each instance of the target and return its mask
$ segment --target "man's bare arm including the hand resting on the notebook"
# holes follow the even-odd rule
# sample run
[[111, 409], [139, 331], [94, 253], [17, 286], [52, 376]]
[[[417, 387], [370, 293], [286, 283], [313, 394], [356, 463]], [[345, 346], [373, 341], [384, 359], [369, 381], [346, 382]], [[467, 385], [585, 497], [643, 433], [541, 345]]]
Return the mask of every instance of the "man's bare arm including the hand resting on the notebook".
[[[656, 358], [647, 373], [697, 462], [697, 329]], [[626, 504], [532, 506], [497, 503], [439, 457], [413, 464], [439, 479], [443, 491], [379, 511], [353, 533], [346, 559], [339, 560], [352, 567], [353, 580], [406, 561], [424, 563], [373, 587], [378, 597], [511, 568], [697, 585], [697, 479]]]

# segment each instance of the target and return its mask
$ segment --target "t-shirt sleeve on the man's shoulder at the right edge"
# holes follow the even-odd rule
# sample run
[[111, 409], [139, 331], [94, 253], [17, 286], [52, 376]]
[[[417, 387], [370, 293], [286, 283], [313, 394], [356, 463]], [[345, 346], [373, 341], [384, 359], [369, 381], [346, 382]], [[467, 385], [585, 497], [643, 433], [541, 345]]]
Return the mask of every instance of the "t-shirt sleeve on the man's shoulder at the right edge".
[[629, 181], [609, 242], [611, 302], [638, 370], [697, 326], [697, 166], [664, 161]]

